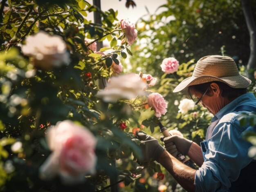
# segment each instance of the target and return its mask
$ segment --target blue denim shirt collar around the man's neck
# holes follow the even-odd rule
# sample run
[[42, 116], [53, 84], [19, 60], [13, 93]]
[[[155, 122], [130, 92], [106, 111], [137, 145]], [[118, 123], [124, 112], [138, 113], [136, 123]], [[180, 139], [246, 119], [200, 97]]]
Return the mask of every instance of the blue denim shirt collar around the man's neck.
[[233, 112], [234, 109], [237, 108], [243, 102], [247, 102], [247, 101], [254, 100], [254, 99], [255, 99], [255, 97], [254, 97], [254, 94], [252, 94], [252, 93], [245, 93], [245, 94], [237, 97], [232, 102], [230, 102], [225, 107], [223, 107], [220, 111], [218, 111], [218, 113], [216, 113], [216, 115], [213, 116], [211, 121], [213, 122], [217, 119], [221, 119], [227, 113]]

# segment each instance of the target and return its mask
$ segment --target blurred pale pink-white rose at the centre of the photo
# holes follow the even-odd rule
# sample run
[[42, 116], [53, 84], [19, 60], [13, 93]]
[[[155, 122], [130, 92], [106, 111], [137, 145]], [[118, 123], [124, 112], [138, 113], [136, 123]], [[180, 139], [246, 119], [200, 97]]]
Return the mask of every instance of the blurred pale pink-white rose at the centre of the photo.
[[145, 86], [146, 84], [135, 73], [119, 75], [111, 77], [106, 88], [99, 90], [97, 96], [105, 102], [115, 103], [120, 99], [132, 99], [141, 95]]

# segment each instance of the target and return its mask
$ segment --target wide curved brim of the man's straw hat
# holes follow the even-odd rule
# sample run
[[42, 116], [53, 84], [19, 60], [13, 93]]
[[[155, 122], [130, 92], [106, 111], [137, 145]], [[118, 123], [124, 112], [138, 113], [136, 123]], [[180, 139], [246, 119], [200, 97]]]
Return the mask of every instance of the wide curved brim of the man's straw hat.
[[203, 83], [208, 83], [213, 81], [223, 82], [232, 88], [247, 88], [252, 83], [250, 79], [242, 75], [229, 76], [229, 77], [214, 77], [211, 75], [202, 75], [196, 78], [192, 76], [180, 82], [180, 84], [178, 84], [177, 87], [175, 87], [175, 89], [173, 90], [173, 93], [186, 90], [186, 88], [188, 88], [191, 85], [198, 85], [198, 84], [203, 84]]

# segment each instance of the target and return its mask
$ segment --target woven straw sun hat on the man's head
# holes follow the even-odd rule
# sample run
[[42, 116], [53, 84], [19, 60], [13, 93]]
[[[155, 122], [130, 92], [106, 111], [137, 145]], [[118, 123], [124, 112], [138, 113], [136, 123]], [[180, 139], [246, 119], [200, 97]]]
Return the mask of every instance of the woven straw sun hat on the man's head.
[[207, 82], [223, 82], [233, 88], [247, 88], [252, 81], [239, 74], [236, 62], [228, 56], [209, 55], [195, 65], [192, 77], [184, 79], [173, 92], [185, 90], [191, 85]]

